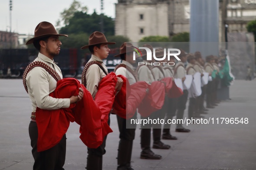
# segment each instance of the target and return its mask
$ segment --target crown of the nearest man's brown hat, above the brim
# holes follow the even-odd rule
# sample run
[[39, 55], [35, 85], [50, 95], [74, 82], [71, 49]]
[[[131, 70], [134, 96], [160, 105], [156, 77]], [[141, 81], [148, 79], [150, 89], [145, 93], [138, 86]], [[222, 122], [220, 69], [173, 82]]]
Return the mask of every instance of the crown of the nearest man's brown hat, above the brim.
[[46, 34], [58, 34], [55, 27], [50, 22], [40, 22], [35, 29], [35, 37]]

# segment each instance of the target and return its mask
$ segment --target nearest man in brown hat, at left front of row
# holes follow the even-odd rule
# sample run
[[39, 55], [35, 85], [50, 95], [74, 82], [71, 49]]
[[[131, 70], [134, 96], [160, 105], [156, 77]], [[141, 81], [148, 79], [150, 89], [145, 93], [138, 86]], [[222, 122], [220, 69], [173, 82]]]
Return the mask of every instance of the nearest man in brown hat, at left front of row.
[[[62, 45], [59, 36], [67, 37], [67, 35], [58, 34], [51, 23], [40, 22], [36, 26], [35, 37], [26, 43], [33, 43], [36, 49], [39, 50], [38, 57], [34, 62], [41, 64], [30, 69], [26, 77], [23, 77], [32, 103], [29, 137], [31, 139], [32, 155], [35, 160], [33, 170], [64, 170], [66, 154], [66, 135], [63, 135], [61, 141], [54, 147], [41, 152], [37, 151], [36, 108], [39, 107], [44, 110], [68, 108], [70, 104], [80, 101], [83, 97], [82, 89], [80, 89], [78, 96], [72, 96], [71, 98], [52, 98], [49, 96], [50, 93], [55, 91], [57, 85], [56, 77], [53, 75], [59, 75], [59, 78], [62, 79], [61, 69], [53, 60], [59, 54]], [[47, 67], [52, 68], [52, 71], [47, 71]]]

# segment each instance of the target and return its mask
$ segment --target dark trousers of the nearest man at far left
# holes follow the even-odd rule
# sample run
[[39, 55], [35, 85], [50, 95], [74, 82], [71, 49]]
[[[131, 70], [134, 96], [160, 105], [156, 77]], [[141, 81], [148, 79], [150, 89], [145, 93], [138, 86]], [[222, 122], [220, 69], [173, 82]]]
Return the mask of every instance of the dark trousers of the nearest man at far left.
[[42, 152], [37, 151], [38, 129], [36, 122], [29, 123], [29, 137], [31, 140], [32, 155], [35, 160], [33, 170], [64, 170], [66, 135], [63, 135], [62, 140], [57, 145]]

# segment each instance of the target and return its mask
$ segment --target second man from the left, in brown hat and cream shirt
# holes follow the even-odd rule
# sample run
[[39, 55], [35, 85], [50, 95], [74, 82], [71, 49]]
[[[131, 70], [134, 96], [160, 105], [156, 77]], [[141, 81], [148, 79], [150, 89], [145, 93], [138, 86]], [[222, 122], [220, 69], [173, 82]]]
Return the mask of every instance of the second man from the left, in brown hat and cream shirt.
[[[84, 67], [82, 83], [90, 91], [93, 98], [96, 96], [100, 81], [108, 74], [107, 67], [103, 63], [110, 51], [108, 44], [116, 43], [108, 42], [103, 33], [95, 31], [89, 37], [89, 44], [81, 47], [81, 49], [89, 48], [91, 52], [91, 59]], [[123, 80], [117, 78], [115, 87], [117, 91], [120, 91], [122, 85]], [[108, 119], [108, 124], [110, 124], [110, 119]], [[102, 156], [106, 153], [106, 139], [107, 136], [104, 138], [102, 145], [96, 149], [87, 148], [87, 170], [102, 170]]]

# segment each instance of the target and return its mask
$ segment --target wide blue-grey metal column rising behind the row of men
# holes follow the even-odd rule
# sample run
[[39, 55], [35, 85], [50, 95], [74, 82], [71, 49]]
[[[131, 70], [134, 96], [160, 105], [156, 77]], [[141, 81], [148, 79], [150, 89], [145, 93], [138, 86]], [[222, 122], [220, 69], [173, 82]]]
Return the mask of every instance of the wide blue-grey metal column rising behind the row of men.
[[[190, 0], [190, 52], [218, 55], [219, 0]], [[208, 43], [202, 43], [208, 42]]]

